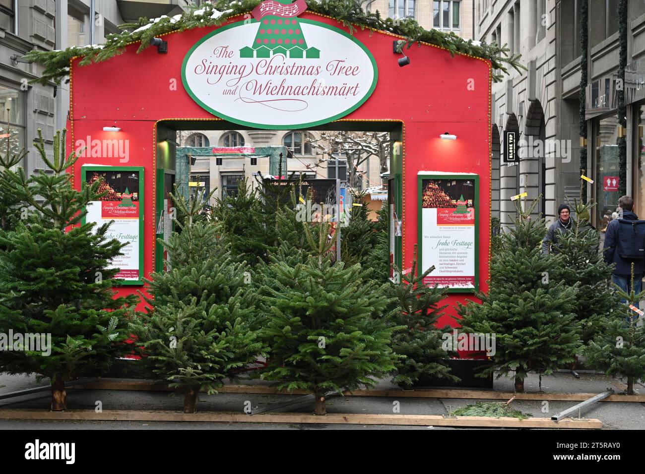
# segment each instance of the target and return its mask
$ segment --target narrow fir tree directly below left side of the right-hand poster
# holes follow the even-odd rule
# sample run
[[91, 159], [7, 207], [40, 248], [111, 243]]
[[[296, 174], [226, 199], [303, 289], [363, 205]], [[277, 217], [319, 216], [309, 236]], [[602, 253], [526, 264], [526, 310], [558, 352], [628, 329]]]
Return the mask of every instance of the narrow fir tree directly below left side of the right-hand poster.
[[428, 268], [417, 276], [417, 246], [414, 246], [412, 271], [403, 275], [401, 284], [390, 285], [390, 295], [395, 297], [399, 308], [394, 312], [392, 321], [406, 329], [392, 337], [392, 350], [404, 355], [397, 362], [399, 373], [392, 382], [404, 388], [412, 388], [419, 377], [429, 376], [437, 379], [459, 378], [450, 374], [448, 358], [450, 353], [442, 348], [442, 333], [452, 330], [450, 326], [439, 330], [435, 325], [448, 305], [439, 306], [448, 290], [437, 286], [422, 284], [423, 279], [434, 270]]

